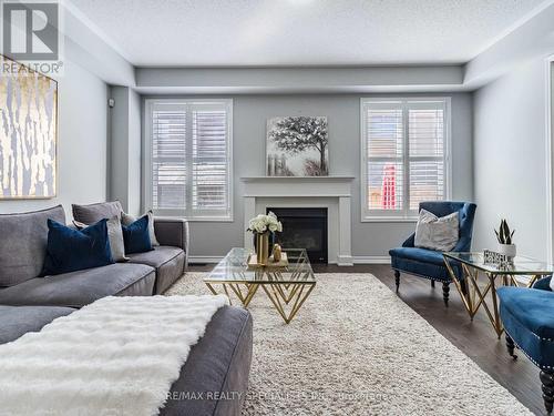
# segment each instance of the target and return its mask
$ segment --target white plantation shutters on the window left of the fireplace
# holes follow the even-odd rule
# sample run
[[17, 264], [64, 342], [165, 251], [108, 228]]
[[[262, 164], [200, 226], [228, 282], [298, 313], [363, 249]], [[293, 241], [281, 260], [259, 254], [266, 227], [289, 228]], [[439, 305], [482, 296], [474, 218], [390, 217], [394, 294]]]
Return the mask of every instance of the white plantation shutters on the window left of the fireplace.
[[230, 100], [147, 100], [151, 163], [146, 193], [155, 213], [230, 217]]

